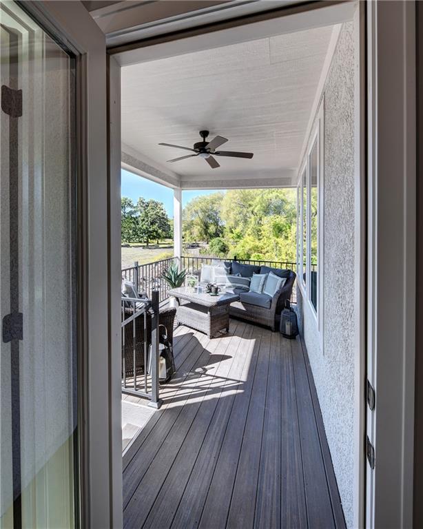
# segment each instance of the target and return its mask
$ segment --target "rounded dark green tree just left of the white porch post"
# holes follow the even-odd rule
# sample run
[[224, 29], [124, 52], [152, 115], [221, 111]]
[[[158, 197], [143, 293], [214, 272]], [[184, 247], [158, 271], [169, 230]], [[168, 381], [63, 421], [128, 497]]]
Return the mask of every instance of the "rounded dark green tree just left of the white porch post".
[[149, 245], [152, 240], [163, 239], [169, 236], [170, 225], [163, 203], [158, 200], [145, 200], [138, 198], [138, 237]]

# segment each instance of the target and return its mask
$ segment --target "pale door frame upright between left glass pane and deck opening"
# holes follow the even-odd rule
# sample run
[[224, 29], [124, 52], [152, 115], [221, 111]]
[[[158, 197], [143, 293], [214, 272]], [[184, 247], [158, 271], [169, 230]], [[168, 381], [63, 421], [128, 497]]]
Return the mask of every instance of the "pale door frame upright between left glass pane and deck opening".
[[109, 308], [110, 273], [114, 270], [109, 267], [107, 225], [105, 36], [80, 2], [47, 0], [21, 5], [76, 56], [79, 507], [82, 527], [118, 529], [122, 526], [121, 393], [119, 406], [114, 406], [117, 395], [110, 381], [116, 351], [120, 360], [120, 342], [116, 349], [116, 329], [110, 323], [116, 315], [110, 318]]

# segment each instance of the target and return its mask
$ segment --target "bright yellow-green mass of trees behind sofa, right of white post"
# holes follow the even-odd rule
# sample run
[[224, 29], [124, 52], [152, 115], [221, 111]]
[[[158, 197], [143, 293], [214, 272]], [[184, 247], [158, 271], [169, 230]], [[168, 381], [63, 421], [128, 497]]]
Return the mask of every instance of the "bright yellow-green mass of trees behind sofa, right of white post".
[[214, 193], [187, 204], [183, 235], [208, 242], [208, 255], [295, 261], [296, 214], [293, 189]]

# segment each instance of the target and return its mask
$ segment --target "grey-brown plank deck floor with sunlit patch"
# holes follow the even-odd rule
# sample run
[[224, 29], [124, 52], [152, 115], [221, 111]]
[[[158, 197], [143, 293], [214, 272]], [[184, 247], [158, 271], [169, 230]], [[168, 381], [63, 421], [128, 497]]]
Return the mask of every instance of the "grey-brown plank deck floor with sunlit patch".
[[178, 373], [123, 455], [135, 528], [344, 527], [307, 352], [231, 320], [207, 339], [180, 326]]

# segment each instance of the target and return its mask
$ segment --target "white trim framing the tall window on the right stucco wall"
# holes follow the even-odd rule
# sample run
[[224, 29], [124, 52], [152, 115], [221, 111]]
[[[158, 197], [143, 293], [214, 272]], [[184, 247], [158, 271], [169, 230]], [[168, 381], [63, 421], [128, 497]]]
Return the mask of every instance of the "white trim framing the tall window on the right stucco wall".
[[[303, 255], [303, 237], [302, 237], [302, 225], [303, 225], [303, 196], [302, 196], [302, 175], [304, 171], [307, 171], [307, 205], [311, 204], [311, 186], [310, 186], [310, 155], [313, 145], [317, 141], [318, 145], [318, 277], [317, 277], [317, 291], [318, 291], [318, 307], [317, 311], [311, 302], [311, 208], [307, 207], [307, 248], [306, 248], [306, 282], [302, 279], [302, 255]], [[301, 169], [298, 174], [298, 185], [297, 190], [300, 191], [297, 196], [301, 197], [300, 203], [300, 221], [298, 222], [298, 242], [300, 251], [300, 262], [297, 263], [297, 276], [300, 275], [298, 281], [298, 287], [302, 294], [302, 298], [307, 304], [308, 312], [313, 315], [313, 321], [316, 324], [316, 329], [320, 338], [320, 348], [324, 353], [324, 282], [322, 280], [322, 273], [324, 273], [324, 97], [320, 102], [318, 112], [316, 114], [315, 125], [311, 129], [309, 141], [307, 142], [307, 149], [305, 150], [305, 159], [302, 160], [300, 165]], [[298, 248], [297, 248], [298, 251]]]

